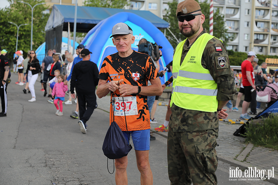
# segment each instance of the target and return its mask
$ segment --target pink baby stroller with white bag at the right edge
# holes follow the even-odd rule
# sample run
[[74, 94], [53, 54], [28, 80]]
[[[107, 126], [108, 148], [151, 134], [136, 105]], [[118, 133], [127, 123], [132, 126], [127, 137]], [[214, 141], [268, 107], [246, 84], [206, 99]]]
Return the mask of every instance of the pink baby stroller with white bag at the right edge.
[[[265, 87], [262, 89], [261, 87]], [[256, 101], [267, 103], [267, 107], [278, 99], [278, 86], [276, 84], [256, 85]]]

